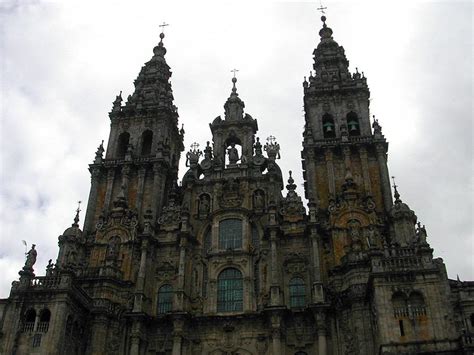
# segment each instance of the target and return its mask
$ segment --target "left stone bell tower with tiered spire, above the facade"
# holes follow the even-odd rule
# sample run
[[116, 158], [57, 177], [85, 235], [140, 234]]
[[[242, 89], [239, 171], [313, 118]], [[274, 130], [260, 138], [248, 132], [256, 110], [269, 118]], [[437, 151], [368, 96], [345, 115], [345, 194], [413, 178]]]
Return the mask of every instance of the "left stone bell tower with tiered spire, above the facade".
[[[176, 184], [183, 148], [183, 129], [173, 104], [170, 67], [166, 63], [164, 34], [135, 80], [135, 91], [122, 104], [122, 92], [109, 113], [110, 135], [105, 159], [99, 146], [90, 165], [92, 184], [84, 232], [92, 233], [100, 216], [123, 193], [128, 206], [142, 221], [146, 209], [156, 216]], [[123, 190], [123, 192], [122, 192]]]

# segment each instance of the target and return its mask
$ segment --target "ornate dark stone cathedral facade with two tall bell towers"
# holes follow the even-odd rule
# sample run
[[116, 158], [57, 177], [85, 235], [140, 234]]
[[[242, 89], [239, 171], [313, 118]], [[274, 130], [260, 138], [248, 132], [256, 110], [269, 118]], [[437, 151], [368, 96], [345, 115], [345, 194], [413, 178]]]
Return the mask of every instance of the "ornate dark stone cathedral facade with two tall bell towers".
[[0, 300], [0, 354], [474, 354], [474, 282], [448, 279], [392, 195], [367, 80], [322, 21], [303, 82], [308, 203], [235, 77], [207, 145], [181, 157], [161, 34], [113, 102], [83, 228], [78, 209], [43, 276], [33, 245]]

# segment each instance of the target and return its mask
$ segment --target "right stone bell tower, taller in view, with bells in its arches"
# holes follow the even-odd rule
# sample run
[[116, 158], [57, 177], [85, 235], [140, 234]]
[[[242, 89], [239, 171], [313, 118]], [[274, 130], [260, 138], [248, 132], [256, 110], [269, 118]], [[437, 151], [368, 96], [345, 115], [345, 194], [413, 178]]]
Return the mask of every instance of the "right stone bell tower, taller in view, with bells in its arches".
[[331, 256], [323, 263], [327, 270], [339, 264], [348, 249], [359, 243], [365, 247], [356, 237], [360, 231], [380, 234], [392, 197], [388, 143], [377, 121], [371, 129], [367, 80], [358, 70], [349, 72], [344, 48], [333, 39], [326, 17], [321, 19], [321, 40], [313, 52], [315, 72], [303, 83], [302, 158], [306, 197], [329, 213], [335, 227], [325, 239], [325, 245], [331, 245]]

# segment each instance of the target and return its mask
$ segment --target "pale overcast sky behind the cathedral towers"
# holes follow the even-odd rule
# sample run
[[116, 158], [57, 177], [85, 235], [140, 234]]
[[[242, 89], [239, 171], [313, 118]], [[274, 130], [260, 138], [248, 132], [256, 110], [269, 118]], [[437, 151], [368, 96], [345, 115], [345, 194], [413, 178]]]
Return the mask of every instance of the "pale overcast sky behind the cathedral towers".
[[[133, 92], [163, 21], [186, 149], [210, 140], [237, 68], [246, 112], [262, 140], [277, 137], [285, 179], [293, 170], [302, 194], [302, 81], [319, 42], [318, 5], [0, 0], [0, 297], [24, 263], [22, 239], [37, 244], [37, 275], [56, 259], [57, 237], [87, 201], [112, 101]], [[351, 71], [367, 77], [402, 200], [449, 276], [473, 280], [471, 2], [325, 5]]]

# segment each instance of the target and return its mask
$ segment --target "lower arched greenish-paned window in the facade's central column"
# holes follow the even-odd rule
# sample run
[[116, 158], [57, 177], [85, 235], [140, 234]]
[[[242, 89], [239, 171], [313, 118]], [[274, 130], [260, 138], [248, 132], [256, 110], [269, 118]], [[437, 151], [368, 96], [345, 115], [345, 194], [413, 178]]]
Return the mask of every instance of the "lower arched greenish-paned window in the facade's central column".
[[217, 311], [238, 312], [242, 308], [242, 273], [234, 268], [225, 269], [217, 278]]

